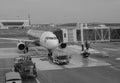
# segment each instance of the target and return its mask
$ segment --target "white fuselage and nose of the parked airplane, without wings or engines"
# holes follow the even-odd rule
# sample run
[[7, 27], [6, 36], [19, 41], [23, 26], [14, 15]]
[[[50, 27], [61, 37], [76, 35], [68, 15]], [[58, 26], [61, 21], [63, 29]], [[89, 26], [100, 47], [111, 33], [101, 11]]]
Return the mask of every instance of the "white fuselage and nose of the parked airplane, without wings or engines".
[[58, 47], [59, 41], [56, 35], [50, 31], [28, 30], [27, 34], [39, 44], [47, 49], [54, 49]]

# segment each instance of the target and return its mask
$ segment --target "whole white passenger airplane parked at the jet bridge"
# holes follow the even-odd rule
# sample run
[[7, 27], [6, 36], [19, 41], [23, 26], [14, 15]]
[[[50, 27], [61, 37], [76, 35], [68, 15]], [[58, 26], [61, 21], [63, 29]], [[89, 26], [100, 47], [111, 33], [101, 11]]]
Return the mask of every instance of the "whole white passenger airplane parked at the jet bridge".
[[17, 48], [20, 51], [25, 51], [29, 48], [29, 44], [34, 44], [35, 46], [42, 46], [48, 50], [48, 57], [52, 56], [52, 51], [59, 48], [66, 48], [67, 43], [59, 43], [59, 39], [51, 31], [40, 31], [29, 29], [27, 31], [27, 39], [16, 39], [16, 38], [0, 38], [4, 40], [18, 41]]

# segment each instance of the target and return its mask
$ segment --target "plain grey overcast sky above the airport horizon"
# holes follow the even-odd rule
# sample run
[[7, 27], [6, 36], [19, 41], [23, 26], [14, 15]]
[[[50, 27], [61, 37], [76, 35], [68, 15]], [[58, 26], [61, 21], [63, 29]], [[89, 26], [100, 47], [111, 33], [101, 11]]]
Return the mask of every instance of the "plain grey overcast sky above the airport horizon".
[[0, 0], [0, 20], [120, 23], [120, 0]]

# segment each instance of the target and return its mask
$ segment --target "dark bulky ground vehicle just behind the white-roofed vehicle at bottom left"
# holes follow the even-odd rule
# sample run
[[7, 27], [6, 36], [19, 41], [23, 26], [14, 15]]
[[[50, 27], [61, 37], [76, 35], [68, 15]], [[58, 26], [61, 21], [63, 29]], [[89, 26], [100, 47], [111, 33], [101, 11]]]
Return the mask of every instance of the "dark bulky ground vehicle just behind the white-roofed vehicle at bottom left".
[[35, 63], [30, 57], [19, 57], [15, 59], [15, 72], [19, 72], [22, 78], [37, 77], [37, 70]]

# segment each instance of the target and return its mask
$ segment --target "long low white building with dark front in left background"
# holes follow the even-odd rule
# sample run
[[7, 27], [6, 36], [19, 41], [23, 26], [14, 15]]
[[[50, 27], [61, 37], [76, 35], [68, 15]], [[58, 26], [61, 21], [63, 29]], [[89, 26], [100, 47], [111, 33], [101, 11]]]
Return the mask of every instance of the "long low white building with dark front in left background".
[[29, 26], [29, 20], [0, 20], [0, 29], [24, 28]]

